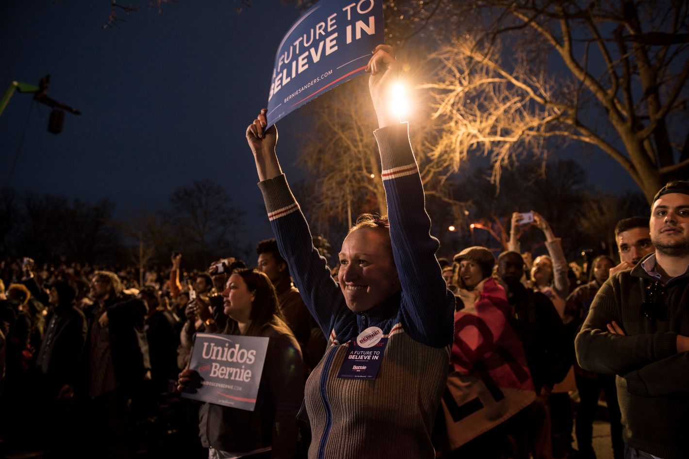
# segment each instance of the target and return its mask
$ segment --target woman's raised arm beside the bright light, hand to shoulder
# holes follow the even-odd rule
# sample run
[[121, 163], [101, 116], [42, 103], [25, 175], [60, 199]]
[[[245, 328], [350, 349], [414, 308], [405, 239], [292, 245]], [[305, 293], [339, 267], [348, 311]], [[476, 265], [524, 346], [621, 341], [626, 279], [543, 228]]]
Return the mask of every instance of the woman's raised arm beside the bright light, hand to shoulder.
[[393, 49], [378, 45], [367, 71], [369, 92], [380, 129], [374, 133], [380, 150], [383, 186], [388, 205], [390, 238], [402, 285], [402, 318], [411, 338], [432, 347], [453, 340], [455, 297], [435, 258], [438, 240], [430, 234], [431, 219], [424, 207], [424, 190], [414, 159], [407, 123], [391, 108], [398, 81]]

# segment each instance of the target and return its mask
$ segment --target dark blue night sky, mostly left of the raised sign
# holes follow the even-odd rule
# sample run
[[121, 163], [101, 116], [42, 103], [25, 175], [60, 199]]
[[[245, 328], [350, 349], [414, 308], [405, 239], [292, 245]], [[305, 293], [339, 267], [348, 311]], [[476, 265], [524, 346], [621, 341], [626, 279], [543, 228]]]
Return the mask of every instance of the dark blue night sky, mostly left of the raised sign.
[[[15, 93], [0, 116], [0, 185], [110, 198], [122, 218], [162, 210], [176, 187], [210, 179], [245, 210], [243, 242], [270, 237], [244, 132], [267, 104], [274, 55], [299, 13], [277, 0], [253, 1], [241, 14], [238, 5], [179, 0], [163, 4], [163, 14], [119, 13], [126, 21], [103, 30], [108, 0], [1, 1], [0, 90], [50, 74], [48, 96], [82, 115], [65, 114], [63, 132], [50, 134], [50, 108]], [[294, 134], [307, 126], [297, 111], [278, 128], [278, 156], [294, 182], [303, 176], [294, 167]], [[565, 157], [576, 157], [606, 190], [635, 187], [601, 153], [570, 149]]]

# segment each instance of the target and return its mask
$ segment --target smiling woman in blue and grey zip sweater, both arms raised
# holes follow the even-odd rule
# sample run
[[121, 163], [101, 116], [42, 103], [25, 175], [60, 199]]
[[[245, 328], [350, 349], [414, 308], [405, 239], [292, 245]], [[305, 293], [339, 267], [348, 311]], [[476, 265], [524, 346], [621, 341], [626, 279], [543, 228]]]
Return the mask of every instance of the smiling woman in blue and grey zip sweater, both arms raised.
[[367, 66], [380, 129], [388, 218], [360, 217], [340, 250], [339, 285], [318, 256], [275, 152], [266, 112], [247, 128], [280, 253], [329, 349], [307, 380], [309, 458], [433, 458], [431, 428], [445, 387], [454, 295], [435, 259], [407, 124], [389, 110], [398, 65], [379, 45]]

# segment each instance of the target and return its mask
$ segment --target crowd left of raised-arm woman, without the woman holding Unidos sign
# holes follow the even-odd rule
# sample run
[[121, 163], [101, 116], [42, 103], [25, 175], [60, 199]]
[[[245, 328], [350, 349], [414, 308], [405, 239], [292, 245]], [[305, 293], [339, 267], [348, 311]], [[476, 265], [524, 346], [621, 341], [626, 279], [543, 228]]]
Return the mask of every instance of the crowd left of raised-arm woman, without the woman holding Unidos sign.
[[[325, 338], [291, 282], [276, 241], [260, 241], [256, 249], [255, 271], [260, 270], [260, 280], [276, 292], [276, 316], [296, 337], [295, 347], [303, 356], [298, 365], [313, 367]], [[160, 440], [189, 442], [185, 451], [192, 456], [203, 451], [199, 410], [179, 399], [178, 373], [189, 362], [196, 332], [223, 332], [232, 322], [223, 307], [231, 274], [255, 274], [235, 258], [218, 260], [203, 272], [183, 272], [181, 262], [182, 255], [173, 254], [169, 267], [146, 272], [139, 285], [131, 267], [37, 265], [30, 258], [2, 261], [3, 453], [43, 450], [43, 457], [131, 457], [138, 449], [142, 457], [159, 457], [146, 456], [143, 449]], [[305, 371], [298, 373], [304, 376]], [[303, 394], [303, 382], [297, 394]], [[37, 412], [52, 420], [50, 429], [27, 428]], [[142, 422], [150, 429], [145, 424], [152, 419], [161, 424], [157, 433], [136, 431]], [[160, 435], [169, 427], [178, 431], [176, 438], [140, 438]]]

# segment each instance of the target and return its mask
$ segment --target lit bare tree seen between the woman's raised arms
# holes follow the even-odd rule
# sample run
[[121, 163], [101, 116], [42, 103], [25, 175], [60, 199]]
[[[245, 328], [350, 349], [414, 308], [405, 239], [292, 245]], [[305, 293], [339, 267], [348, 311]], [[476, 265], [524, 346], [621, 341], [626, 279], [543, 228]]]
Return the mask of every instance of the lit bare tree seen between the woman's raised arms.
[[316, 232], [332, 224], [346, 228], [364, 212], [386, 214], [367, 80], [349, 81], [302, 110], [309, 130], [298, 162], [313, 179], [302, 185], [311, 192], [300, 199], [311, 209]]

